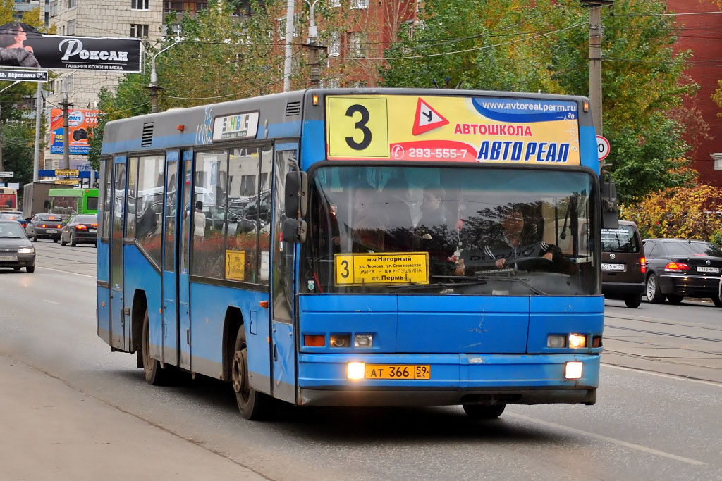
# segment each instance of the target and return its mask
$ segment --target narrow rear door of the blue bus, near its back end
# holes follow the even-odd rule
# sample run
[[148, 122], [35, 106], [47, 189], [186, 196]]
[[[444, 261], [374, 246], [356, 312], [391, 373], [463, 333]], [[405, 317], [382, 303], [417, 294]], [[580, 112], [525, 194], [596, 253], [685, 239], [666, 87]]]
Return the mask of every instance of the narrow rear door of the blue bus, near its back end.
[[126, 206], [126, 157], [113, 159], [113, 224], [110, 226], [110, 347], [128, 350], [123, 304], [123, 226]]

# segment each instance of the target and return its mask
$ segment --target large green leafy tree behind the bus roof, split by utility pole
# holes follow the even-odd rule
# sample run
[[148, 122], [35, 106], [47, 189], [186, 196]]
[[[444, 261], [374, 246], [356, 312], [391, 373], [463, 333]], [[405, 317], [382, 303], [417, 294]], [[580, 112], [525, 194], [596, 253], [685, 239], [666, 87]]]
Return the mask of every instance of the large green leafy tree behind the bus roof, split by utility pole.
[[[654, 15], [665, 12], [661, 0], [604, 9], [607, 162], [626, 202], [695, 180], [679, 110], [698, 86], [684, 76], [690, 54], [672, 50], [674, 17]], [[452, 87], [588, 94], [588, 12], [578, 1], [427, 0], [419, 17], [386, 52], [388, 87], [449, 77]]]

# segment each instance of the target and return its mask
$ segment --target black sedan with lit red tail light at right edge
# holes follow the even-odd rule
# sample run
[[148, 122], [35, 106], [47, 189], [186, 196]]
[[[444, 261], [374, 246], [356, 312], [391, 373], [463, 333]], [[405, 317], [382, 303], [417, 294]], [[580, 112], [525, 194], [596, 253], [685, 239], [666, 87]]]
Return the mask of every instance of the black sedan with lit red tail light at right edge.
[[722, 250], [710, 242], [688, 239], [645, 239], [647, 299], [679, 304], [685, 296], [708, 297], [722, 307], [719, 296]]

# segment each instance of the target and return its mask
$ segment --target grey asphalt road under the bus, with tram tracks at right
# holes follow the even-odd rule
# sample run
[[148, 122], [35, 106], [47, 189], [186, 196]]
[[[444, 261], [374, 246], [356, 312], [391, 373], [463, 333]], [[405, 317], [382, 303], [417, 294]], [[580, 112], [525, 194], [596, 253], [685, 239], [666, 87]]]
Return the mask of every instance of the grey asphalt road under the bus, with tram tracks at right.
[[[294, 481], [722, 479], [722, 320], [711, 304], [608, 301], [594, 406], [510, 406], [490, 422], [460, 407], [284, 407], [253, 423], [225, 384], [151, 387], [134, 356], [110, 353], [95, 335], [92, 245], [36, 248], [35, 273], [0, 272], [0, 355], [213, 455], [203, 462]], [[192, 479], [191, 462], [177, 459], [173, 479]]]

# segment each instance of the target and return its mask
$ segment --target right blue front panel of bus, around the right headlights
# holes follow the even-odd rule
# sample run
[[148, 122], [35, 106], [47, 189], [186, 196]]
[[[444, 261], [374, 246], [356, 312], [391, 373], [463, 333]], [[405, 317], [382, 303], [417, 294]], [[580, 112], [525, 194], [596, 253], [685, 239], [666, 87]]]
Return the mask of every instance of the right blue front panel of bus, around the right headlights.
[[[551, 297], [533, 296], [529, 319], [528, 353], [568, 352], [547, 348], [550, 334], [586, 334], [591, 346], [593, 335], [604, 330], [604, 296]], [[578, 350], [580, 353], [601, 352], [601, 349]]]

